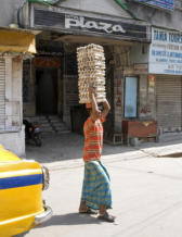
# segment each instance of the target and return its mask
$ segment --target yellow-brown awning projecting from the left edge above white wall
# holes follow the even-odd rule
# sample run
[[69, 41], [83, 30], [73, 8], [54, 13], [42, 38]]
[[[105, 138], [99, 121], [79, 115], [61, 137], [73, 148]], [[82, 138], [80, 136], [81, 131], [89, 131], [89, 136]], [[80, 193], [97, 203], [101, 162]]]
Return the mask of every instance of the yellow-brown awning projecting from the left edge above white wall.
[[0, 52], [36, 53], [35, 35], [18, 29], [0, 29]]

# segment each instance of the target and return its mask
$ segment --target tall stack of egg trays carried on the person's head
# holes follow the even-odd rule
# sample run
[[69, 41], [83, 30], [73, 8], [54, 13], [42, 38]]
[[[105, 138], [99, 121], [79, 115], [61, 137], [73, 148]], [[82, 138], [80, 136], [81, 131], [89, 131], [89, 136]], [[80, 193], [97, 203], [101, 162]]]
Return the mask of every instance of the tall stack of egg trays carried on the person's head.
[[105, 93], [105, 57], [102, 46], [88, 45], [77, 48], [79, 103], [89, 103], [89, 86], [94, 87], [96, 102], [103, 102]]

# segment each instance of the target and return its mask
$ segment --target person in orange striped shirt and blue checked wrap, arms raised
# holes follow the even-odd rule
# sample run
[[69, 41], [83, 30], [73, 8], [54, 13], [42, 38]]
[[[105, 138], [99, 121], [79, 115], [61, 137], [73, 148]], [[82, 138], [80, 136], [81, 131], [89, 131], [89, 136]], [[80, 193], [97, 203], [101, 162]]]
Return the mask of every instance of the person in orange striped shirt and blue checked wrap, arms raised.
[[93, 87], [89, 88], [91, 101], [90, 116], [84, 122], [84, 178], [82, 185], [79, 213], [93, 214], [99, 210], [99, 219], [114, 222], [115, 216], [107, 212], [112, 208], [110, 179], [108, 172], [101, 162], [103, 148], [103, 122], [110, 107], [107, 100], [103, 102], [102, 111], [96, 103]]

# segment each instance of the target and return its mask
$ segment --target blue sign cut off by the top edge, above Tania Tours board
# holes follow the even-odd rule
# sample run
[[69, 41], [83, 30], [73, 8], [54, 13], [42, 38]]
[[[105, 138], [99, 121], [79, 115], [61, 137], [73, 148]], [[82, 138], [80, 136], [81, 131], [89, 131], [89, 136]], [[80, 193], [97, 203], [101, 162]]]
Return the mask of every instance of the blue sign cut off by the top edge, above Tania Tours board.
[[174, 0], [139, 0], [139, 2], [171, 11], [174, 9]]

